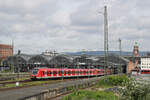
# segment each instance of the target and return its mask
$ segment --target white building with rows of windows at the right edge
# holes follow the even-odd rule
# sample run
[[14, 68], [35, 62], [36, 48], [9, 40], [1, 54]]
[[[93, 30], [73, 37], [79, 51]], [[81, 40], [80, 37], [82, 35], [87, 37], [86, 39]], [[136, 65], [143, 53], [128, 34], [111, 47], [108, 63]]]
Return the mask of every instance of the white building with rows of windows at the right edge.
[[145, 69], [150, 70], [150, 58], [148, 58], [148, 57], [141, 58], [141, 69], [142, 70], [145, 70]]

